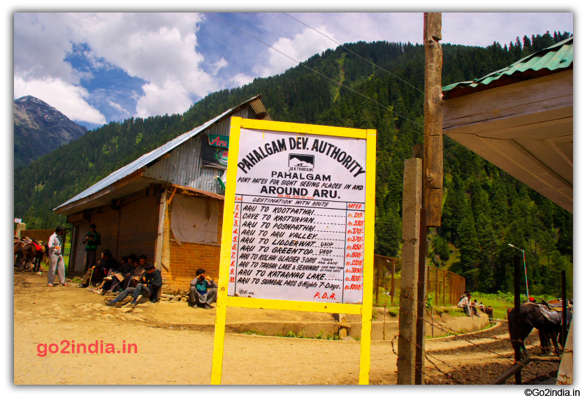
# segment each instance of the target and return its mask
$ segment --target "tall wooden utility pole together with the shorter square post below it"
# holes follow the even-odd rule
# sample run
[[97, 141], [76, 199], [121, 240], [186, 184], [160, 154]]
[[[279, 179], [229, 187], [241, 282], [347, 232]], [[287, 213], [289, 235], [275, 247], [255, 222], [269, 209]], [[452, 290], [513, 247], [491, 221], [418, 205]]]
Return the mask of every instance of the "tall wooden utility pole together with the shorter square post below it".
[[405, 161], [398, 384], [422, 384], [425, 358], [426, 233], [442, 212], [442, 15], [424, 13], [424, 145]]

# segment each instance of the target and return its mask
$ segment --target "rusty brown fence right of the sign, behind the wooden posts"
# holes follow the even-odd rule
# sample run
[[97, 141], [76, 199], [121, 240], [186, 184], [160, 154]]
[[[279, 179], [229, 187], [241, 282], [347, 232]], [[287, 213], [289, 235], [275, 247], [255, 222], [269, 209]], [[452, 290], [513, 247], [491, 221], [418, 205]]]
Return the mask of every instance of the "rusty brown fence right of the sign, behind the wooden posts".
[[[402, 260], [379, 256], [373, 258], [373, 304], [392, 306], [399, 304], [400, 271]], [[433, 293], [435, 307], [450, 307], [458, 304], [465, 290], [465, 278], [454, 272], [428, 267], [426, 292]]]

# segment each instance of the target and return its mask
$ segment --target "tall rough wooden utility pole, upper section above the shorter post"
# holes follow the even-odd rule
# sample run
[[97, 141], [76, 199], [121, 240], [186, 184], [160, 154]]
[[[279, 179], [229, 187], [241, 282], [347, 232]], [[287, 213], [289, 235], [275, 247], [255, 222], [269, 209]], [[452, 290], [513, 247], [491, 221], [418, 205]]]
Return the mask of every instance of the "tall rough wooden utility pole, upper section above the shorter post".
[[442, 213], [442, 14], [424, 13], [424, 163], [426, 225], [440, 227]]

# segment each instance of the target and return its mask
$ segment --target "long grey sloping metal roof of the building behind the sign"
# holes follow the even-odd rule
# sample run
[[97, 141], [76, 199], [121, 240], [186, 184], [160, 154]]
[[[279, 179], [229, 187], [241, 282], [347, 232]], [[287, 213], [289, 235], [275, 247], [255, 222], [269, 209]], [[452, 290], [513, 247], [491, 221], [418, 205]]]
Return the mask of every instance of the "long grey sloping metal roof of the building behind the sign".
[[[253, 98], [250, 98], [249, 100], [241, 103], [240, 105], [235, 106], [234, 108], [227, 110], [226, 112], [222, 113], [222, 115], [219, 115], [219, 116], [215, 117], [214, 119], [205, 122], [205, 124], [202, 124], [201, 126], [194, 128], [194, 130], [188, 131], [187, 133], [183, 133], [182, 135], [174, 138], [173, 140], [167, 142], [166, 144], [161, 145], [161, 147], [154, 149], [151, 152], [144, 154], [143, 156], [140, 156], [140, 158], [136, 159], [136, 161], [133, 161], [133, 162], [125, 165], [124, 167], [119, 168], [118, 170], [116, 170], [112, 174], [108, 175], [108, 177], [101, 179], [101, 181], [96, 182], [96, 184], [90, 186], [85, 191], [82, 191], [82, 193], [79, 193], [77, 196], [74, 196], [73, 198], [64, 202], [63, 204], [59, 205], [58, 207], [56, 207], [53, 210], [57, 212], [57, 210], [61, 207], [64, 207], [72, 202], [75, 202], [76, 200], [86, 198], [87, 196], [90, 196], [93, 193], [96, 193], [96, 192], [101, 191], [102, 189], [105, 189], [106, 187], [114, 184], [115, 182], [119, 181], [120, 179], [126, 177], [127, 175], [131, 175], [133, 172], [136, 172], [140, 168], [143, 168], [144, 166], [148, 165], [149, 163], [152, 163], [153, 161], [156, 161], [157, 159], [159, 159], [160, 156], [163, 156], [164, 154], [172, 151], [176, 147], [182, 145], [184, 142], [187, 142], [191, 138], [194, 138], [196, 135], [198, 135], [198, 133], [201, 133], [202, 131], [204, 131], [206, 128], [208, 128], [209, 126], [211, 126], [215, 122], [230, 115], [231, 112], [233, 112], [235, 109], [238, 109], [238, 108], [242, 107], [243, 105], [247, 105], [248, 103], [257, 102], [257, 101], [259, 101], [259, 96], [254, 96]], [[261, 101], [259, 101], [259, 102], [261, 102]], [[264, 107], [263, 107], [263, 109], [264, 109]], [[213, 177], [210, 177], [210, 178], [212, 179]]]

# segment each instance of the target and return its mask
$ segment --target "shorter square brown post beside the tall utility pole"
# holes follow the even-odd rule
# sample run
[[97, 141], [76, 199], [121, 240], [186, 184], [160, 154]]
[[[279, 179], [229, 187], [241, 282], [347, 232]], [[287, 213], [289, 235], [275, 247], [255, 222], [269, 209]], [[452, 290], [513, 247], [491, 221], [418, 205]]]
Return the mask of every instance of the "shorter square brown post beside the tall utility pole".
[[416, 297], [418, 282], [422, 159], [405, 161], [403, 182], [402, 275], [400, 280], [400, 334], [398, 384], [414, 384], [416, 364]]

